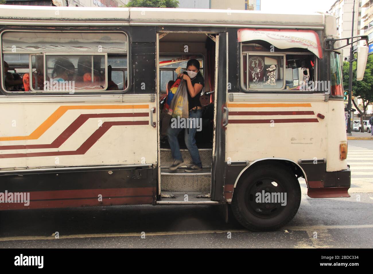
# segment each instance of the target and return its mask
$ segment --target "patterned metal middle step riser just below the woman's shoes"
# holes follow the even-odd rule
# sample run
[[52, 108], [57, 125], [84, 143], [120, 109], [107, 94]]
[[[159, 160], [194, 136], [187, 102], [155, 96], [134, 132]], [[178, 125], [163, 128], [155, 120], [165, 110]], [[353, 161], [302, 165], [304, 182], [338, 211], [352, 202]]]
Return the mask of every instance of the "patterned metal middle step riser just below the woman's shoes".
[[211, 169], [195, 172], [161, 169], [161, 191], [210, 193]]

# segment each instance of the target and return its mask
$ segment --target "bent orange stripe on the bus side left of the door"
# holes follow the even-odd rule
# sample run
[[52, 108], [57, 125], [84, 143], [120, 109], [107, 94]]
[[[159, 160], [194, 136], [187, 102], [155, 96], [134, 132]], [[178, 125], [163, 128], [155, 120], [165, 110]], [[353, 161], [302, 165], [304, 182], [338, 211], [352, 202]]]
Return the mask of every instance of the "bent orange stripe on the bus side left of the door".
[[149, 105], [62, 105], [52, 113], [47, 120], [37, 127], [28, 136], [0, 137], [0, 141], [36, 140], [44, 134], [68, 110], [94, 110], [94, 109], [139, 109], [149, 108]]

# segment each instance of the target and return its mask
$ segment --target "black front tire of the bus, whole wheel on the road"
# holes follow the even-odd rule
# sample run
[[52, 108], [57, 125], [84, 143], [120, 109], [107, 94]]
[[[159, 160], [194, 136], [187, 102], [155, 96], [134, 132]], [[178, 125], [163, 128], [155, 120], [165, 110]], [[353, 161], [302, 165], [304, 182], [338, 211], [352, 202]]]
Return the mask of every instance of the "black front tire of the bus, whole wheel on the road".
[[[264, 193], [286, 193], [286, 205], [257, 203], [253, 195], [263, 193], [261, 189], [264, 189]], [[295, 175], [285, 166], [265, 165], [253, 169], [238, 182], [231, 206], [235, 218], [242, 226], [253, 231], [272, 231], [285, 226], [294, 218], [300, 202], [301, 188]]]

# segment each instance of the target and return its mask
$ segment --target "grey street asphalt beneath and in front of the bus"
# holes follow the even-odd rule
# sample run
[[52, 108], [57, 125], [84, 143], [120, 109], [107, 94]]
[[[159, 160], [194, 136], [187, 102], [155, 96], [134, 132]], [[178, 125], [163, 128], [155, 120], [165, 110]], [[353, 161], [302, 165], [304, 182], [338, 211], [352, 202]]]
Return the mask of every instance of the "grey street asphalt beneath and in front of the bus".
[[300, 181], [299, 211], [275, 232], [226, 224], [216, 205], [1, 211], [0, 248], [372, 248], [373, 141], [348, 141], [348, 163], [350, 198], [309, 198]]

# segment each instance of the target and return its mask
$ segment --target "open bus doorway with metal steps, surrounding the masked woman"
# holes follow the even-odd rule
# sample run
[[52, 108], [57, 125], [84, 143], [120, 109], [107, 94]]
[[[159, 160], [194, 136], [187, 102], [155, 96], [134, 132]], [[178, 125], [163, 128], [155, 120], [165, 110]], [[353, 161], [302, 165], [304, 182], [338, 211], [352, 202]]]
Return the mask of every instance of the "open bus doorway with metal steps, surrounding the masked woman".
[[[162, 201], [185, 201], [189, 203], [210, 201], [211, 168], [214, 147], [214, 86], [216, 64], [216, 34], [169, 32], [159, 34], [159, 100], [160, 100], [160, 182], [159, 194]], [[170, 87], [177, 80], [178, 73], [187, 70], [187, 63], [196, 59], [204, 79], [199, 102], [202, 117], [197, 123], [195, 141], [201, 158], [202, 170], [187, 173], [185, 169], [192, 166], [193, 161], [185, 144], [185, 130], [178, 134], [178, 142], [184, 163], [175, 171], [170, 171], [173, 157], [165, 128], [172, 124], [164, 119], [164, 104]]]

